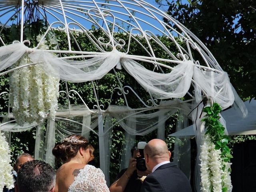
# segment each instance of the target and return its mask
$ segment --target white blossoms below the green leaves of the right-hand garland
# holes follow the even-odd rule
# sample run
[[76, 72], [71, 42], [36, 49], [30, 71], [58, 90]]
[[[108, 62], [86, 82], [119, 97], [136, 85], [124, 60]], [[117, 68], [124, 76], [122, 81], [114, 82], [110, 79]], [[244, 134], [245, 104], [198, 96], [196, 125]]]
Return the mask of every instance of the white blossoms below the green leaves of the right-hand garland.
[[[227, 192], [232, 191], [230, 178], [231, 163], [224, 162], [220, 158], [220, 150], [215, 149], [209, 135], [202, 135], [202, 146], [199, 159], [201, 172], [201, 191], [202, 192], [222, 192], [226, 187]], [[224, 171], [223, 171], [223, 167]]]

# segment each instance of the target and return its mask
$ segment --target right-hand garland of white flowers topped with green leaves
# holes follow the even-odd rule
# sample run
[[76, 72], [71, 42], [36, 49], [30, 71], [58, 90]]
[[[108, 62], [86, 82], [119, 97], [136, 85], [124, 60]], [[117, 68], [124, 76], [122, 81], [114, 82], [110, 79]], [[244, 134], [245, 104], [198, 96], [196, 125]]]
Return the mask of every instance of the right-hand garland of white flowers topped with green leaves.
[[219, 122], [221, 111], [219, 104], [205, 107], [206, 133], [202, 136], [202, 146], [199, 159], [201, 171], [202, 192], [231, 192], [232, 184], [230, 177], [230, 137], [224, 134], [225, 128]]

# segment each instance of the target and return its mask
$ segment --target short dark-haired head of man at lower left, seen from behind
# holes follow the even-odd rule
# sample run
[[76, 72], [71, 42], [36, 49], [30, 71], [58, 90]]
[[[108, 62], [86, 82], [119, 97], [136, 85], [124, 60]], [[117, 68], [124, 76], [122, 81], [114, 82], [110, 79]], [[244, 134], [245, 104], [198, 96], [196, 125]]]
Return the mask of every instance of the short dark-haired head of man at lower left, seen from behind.
[[19, 192], [49, 192], [55, 186], [56, 175], [46, 162], [32, 160], [24, 163], [18, 171]]

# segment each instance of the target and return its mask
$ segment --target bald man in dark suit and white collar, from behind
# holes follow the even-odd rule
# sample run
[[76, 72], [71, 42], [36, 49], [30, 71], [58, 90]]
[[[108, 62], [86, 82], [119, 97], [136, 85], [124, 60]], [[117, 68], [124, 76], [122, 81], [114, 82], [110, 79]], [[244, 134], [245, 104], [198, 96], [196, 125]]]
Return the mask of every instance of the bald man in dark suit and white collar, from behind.
[[185, 174], [170, 162], [171, 152], [163, 140], [153, 139], [144, 148], [148, 170], [140, 192], [192, 192]]

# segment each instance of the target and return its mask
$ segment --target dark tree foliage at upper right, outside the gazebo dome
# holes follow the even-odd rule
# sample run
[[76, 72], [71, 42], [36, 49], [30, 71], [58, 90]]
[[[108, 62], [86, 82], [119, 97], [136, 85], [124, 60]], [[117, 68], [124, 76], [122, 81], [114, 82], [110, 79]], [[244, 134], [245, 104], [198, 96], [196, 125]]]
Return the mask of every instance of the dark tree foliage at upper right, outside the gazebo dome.
[[244, 100], [256, 96], [255, 0], [156, 2], [207, 46]]

